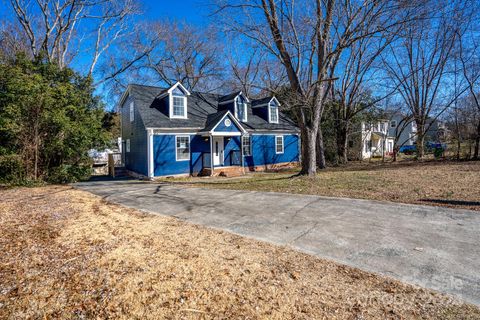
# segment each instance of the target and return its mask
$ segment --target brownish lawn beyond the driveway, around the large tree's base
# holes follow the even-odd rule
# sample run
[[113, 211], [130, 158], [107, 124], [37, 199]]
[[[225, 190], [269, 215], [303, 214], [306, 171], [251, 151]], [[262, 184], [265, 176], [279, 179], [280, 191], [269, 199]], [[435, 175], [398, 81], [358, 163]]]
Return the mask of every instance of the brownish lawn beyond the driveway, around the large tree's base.
[[166, 179], [211, 188], [387, 200], [480, 210], [480, 161], [363, 162], [319, 171], [251, 173], [239, 178]]

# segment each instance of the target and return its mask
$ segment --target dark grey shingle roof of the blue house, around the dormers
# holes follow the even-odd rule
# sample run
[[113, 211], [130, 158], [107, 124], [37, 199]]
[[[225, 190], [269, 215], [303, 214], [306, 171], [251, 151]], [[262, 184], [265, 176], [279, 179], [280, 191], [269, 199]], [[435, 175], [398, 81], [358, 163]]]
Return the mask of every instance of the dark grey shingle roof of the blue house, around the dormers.
[[[158, 98], [164, 92], [165, 88], [138, 84], [129, 85], [129, 95], [135, 101], [135, 107], [146, 128], [192, 128], [208, 131], [207, 129], [212, 123], [215, 125], [226, 113], [226, 110], [218, 109], [220, 99], [229, 101], [225, 99], [230, 97], [230, 100], [232, 100], [239, 93], [222, 96], [193, 91], [187, 98], [187, 119], [170, 119], [167, 108], [168, 99]], [[271, 97], [268, 99], [270, 100]], [[279, 123], [276, 124], [269, 123], [261, 116], [253, 114], [252, 109], [248, 108], [247, 122], [239, 122], [247, 130], [298, 131], [295, 123], [281, 112], [279, 112]]]

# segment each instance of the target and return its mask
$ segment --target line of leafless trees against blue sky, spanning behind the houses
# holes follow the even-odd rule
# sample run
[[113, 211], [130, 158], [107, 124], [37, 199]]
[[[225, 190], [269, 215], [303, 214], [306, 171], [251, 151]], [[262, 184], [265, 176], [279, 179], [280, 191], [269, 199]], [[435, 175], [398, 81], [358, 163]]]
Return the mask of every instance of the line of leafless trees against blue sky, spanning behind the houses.
[[[74, 69], [112, 102], [128, 83], [275, 94], [301, 130], [302, 173], [348, 161], [360, 121], [447, 121], [478, 158], [478, 8], [466, 0], [218, 0], [207, 23], [146, 20], [139, 2], [10, 0], [2, 63]], [[473, 148], [472, 148], [473, 146]], [[396, 146], [397, 148], [399, 146]]]

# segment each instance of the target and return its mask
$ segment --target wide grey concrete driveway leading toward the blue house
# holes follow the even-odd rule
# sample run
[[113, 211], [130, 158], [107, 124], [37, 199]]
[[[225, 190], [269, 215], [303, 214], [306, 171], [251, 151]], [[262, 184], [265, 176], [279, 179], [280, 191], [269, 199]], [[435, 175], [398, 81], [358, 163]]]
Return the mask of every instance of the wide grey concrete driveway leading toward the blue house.
[[288, 245], [480, 305], [480, 212], [135, 180], [75, 187], [128, 207]]

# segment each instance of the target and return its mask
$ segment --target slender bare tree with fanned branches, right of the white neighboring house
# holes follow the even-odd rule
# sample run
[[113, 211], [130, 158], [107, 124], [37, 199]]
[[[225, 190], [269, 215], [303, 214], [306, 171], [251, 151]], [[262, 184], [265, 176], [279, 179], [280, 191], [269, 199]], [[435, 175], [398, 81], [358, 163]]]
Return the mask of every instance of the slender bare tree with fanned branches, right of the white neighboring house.
[[439, 2], [426, 8], [433, 17], [417, 21], [405, 30], [401, 40], [390, 46], [385, 66], [391, 80], [398, 86], [409, 112], [417, 125], [417, 154], [424, 156], [425, 135], [429, 127], [461, 94], [455, 90], [453, 99], [446, 86], [449, 62], [454, 44], [468, 6], [462, 1]]

